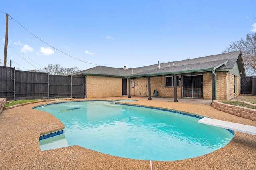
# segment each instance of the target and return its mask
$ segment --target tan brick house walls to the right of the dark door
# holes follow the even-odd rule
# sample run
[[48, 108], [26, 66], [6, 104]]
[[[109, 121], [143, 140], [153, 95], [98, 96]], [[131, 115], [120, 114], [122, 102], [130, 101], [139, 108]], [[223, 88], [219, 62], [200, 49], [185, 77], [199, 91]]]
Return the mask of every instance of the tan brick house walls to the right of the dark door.
[[[181, 75], [177, 75], [180, 76]], [[135, 86], [132, 87], [131, 95], [148, 96], [148, 78], [134, 78]], [[165, 87], [165, 77], [151, 77], [151, 96], [154, 90], [158, 91], [159, 97], [174, 98], [174, 87]], [[240, 78], [236, 77], [236, 93], [234, 93], [234, 75], [227, 72], [216, 72], [216, 98], [228, 100], [240, 94]], [[177, 87], [177, 98], [182, 98], [181, 81]], [[203, 74], [203, 98], [212, 100], [212, 73]]]

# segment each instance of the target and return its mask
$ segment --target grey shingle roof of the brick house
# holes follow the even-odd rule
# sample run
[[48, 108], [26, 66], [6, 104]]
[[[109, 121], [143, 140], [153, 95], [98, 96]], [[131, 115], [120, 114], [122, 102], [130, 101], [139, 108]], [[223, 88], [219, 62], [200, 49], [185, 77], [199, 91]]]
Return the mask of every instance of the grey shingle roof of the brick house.
[[[182, 61], [154, 64], [150, 66], [137, 68], [112, 68], [105, 66], [96, 66], [88, 70], [77, 72], [72, 75], [98, 75], [114, 77], [138, 77], [150, 75], [178, 74], [186, 72], [210, 71], [213, 68], [218, 70], [232, 70], [238, 60], [242, 62], [241, 51], [222, 53], [206, 57], [198, 57]], [[221, 65], [220, 65], [221, 64]], [[160, 68], [159, 68], [160, 66]], [[242, 63], [243, 68], [243, 63]]]

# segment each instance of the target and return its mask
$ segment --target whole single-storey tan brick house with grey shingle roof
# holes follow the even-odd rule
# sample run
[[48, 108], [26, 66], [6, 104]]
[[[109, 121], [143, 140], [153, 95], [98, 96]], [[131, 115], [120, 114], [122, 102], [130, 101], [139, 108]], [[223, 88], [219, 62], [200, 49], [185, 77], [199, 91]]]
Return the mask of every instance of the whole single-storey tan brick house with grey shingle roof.
[[131, 95], [228, 100], [240, 94], [245, 76], [241, 51], [158, 63], [138, 68], [96, 66], [72, 76], [85, 76], [86, 98]]

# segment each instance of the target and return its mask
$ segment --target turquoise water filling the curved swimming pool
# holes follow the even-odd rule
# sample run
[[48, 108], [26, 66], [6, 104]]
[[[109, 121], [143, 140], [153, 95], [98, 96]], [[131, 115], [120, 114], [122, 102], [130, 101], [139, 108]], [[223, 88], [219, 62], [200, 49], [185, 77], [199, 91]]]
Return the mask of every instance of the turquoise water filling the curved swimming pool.
[[[65, 125], [63, 142], [98, 152], [141, 160], [181, 160], [210, 153], [233, 138], [226, 129], [198, 123], [199, 118], [109, 101], [49, 104], [35, 109]], [[43, 139], [44, 150], [53, 138]], [[57, 139], [56, 139], [57, 141]], [[41, 147], [42, 149], [42, 147]]]

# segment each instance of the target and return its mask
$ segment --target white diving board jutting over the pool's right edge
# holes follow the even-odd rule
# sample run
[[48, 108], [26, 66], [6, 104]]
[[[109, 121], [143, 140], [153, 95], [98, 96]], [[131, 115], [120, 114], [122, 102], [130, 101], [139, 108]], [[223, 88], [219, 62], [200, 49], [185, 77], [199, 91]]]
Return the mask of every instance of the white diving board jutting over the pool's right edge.
[[243, 133], [249, 133], [251, 135], [256, 135], [256, 127], [255, 126], [250, 126], [250, 125], [243, 125], [239, 123], [232, 123], [229, 121], [222, 121], [222, 120], [217, 120], [217, 119], [211, 119], [208, 117], [204, 117], [198, 121], [198, 123], [203, 123], [206, 125], [212, 125], [212, 126], [217, 126], [217, 127], [222, 127], [225, 129], [230, 129], [233, 131], [239, 131]]

